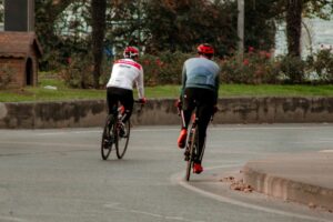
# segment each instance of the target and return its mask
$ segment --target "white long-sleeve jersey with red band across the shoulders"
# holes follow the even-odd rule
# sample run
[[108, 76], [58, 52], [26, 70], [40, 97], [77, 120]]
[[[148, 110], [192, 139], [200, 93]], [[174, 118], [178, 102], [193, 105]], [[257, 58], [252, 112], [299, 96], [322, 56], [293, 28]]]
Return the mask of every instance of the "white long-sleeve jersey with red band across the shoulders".
[[139, 99], [144, 97], [143, 69], [132, 59], [117, 60], [112, 67], [111, 77], [107, 87], [117, 87], [133, 90], [135, 83]]

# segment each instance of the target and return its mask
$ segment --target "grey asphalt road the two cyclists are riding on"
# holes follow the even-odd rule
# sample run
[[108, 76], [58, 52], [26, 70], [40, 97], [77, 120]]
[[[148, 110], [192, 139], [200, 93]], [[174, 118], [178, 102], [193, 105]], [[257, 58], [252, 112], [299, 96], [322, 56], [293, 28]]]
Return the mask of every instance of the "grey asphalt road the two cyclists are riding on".
[[0, 130], [0, 222], [306, 222], [333, 214], [216, 181], [249, 160], [333, 147], [333, 124], [211, 125], [203, 167], [183, 180], [176, 127], [134, 127], [123, 160], [101, 129]]

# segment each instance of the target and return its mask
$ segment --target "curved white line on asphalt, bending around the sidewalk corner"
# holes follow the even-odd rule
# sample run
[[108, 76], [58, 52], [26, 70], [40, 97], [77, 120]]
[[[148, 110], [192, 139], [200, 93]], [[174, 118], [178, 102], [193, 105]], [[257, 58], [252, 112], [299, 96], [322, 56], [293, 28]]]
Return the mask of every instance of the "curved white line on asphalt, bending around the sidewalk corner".
[[[213, 167], [213, 168], [206, 168], [205, 170], [226, 169], [226, 168], [231, 168], [231, 165], [230, 164], [219, 165], [219, 167]], [[234, 199], [231, 199], [231, 198], [218, 195], [218, 194], [214, 194], [214, 193], [211, 193], [209, 191], [204, 191], [204, 190], [201, 190], [199, 188], [195, 188], [195, 186], [191, 185], [189, 182], [186, 182], [184, 180], [184, 175], [185, 175], [184, 171], [180, 172], [180, 173], [175, 173], [175, 174], [171, 175], [171, 182], [172, 183], [178, 183], [178, 184], [180, 184], [181, 186], [183, 186], [188, 190], [191, 190], [191, 191], [196, 192], [201, 195], [214, 199], [214, 200], [223, 202], [223, 203], [230, 203], [230, 204], [239, 205], [239, 206], [246, 208], [246, 209], [252, 209], [252, 210], [256, 210], [256, 211], [263, 211], [263, 212], [266, 212], [266, 213], [274, 213], [274, 214], [285, 215], [285, 216], [291, 216], [291, 218], [297, 218], [297, 219], [303, 219], [303, 220], [313, 220], [313, 221], [319, 221], [319, 222], [332, 222], [331, 220], [326, 220], [326, 219], [319, 219], [319, 218], [302, 215], [302, 214], [299, 214], [299, 213], [292, 213], [292, 212], [275, 210], [275, 209], [271, 209], [271, 208], [254, 205], [254, 204], [241, 202], [241, 201], [238, 201], [238, 200], [234, 200]]]

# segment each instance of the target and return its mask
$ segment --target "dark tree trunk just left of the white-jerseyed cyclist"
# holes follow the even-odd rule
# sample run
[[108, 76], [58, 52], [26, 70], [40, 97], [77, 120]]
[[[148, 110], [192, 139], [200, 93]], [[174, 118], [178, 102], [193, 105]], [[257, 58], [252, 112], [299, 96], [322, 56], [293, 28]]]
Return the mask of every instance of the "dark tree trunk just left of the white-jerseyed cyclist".
[[107, 0], [91, 0], [92, 18], [92, 54], [93, 54], [93, 87], [100, 87], [100, 75], [103, 59], [103, 40], [105, 33]]

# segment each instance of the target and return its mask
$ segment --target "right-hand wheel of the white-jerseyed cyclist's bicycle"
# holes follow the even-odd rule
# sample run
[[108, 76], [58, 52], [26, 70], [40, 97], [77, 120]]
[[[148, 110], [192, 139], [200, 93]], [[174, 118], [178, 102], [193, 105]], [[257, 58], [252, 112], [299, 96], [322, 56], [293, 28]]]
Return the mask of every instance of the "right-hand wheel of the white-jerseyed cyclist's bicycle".
[[128, 120], [124, 123], [124, 132], [121, 130], [117, 130], [115, 137], [115, 151], [118, 159], [122, 159], [124, 153], [127, 152], [129, 140], [130, 140], [130, 132], [131, 132], [131, 123]]

